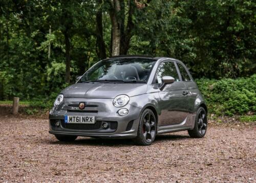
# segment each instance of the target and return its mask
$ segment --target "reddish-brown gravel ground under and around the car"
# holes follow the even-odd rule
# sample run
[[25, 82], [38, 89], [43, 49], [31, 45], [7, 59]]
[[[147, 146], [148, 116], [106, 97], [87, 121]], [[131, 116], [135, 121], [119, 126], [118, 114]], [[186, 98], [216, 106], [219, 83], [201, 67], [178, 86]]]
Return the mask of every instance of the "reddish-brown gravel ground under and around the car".
[[256, 182], [255, 125], [209, 125], [203, 139], [159, 135], [151, 146], [61, 143], [47, 119], [1, 112], [0, 126], [0, 182]]

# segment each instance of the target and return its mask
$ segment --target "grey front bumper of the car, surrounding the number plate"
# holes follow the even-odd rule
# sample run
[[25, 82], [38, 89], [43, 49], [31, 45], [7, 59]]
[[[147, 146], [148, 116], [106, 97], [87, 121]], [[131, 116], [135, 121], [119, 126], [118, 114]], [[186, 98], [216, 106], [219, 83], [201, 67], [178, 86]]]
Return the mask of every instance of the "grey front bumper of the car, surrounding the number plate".
[[[92, 136], [98, 138], [135, 138], [137, 136], [141, 108], [132, 104], [127, 104], [121, 108], [128, 109], [129, 114], [121, 117], [117, 113], [120, 107], [113, 106], [112, 101], [113, 99], [65, 98], [60, 106], [54, 107], [50, 112], [49, 133]], [[76, 107], [79, 102], [86, 102], [86, 108], [80, 110]], [[84, 128], [84, 126], [83, 128], [79, 128], [72, 126], [71, 129], [64, 124], [65, 115], [95, 116], [95, 121], [98, 126], [92, 126], [92, 128]], [[57, 120], [61, 122], [59, 127], [54, 126], [54, 122]], [[103, 122], [107, 122], [109, 124], [117, 123], [117, 127], [111, 126], [111, 128], [103, 129], [101, 127]], [[86, 126], [87, 124], [84, 125]]]

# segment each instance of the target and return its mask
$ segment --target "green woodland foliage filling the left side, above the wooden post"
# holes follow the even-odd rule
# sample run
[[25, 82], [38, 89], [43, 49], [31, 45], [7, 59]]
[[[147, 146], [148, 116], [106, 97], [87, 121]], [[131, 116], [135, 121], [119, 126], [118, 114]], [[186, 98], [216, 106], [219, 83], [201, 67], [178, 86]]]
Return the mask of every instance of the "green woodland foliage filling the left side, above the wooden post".
[[[71, 42], [71, 82], [96, 62], [92, 2], [7, 0], [0, 9], [0, 100], [49, 97], [66, 87], [65, 39]], [[49, 34], [49, 28], [52, 33]], [[51, 54], [48, 58], [49, 43]], [[51, 79], [49, 79], [51, 77]], [[49, 94], [50, 93], [50, 94]]]

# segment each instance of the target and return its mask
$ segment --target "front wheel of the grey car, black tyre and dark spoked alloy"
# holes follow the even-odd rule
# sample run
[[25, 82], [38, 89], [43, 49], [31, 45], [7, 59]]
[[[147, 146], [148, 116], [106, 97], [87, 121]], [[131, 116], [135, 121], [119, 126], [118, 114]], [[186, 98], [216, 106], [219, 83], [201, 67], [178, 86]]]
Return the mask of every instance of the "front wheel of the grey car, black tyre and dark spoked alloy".
[[134, 139], [138, 145], [151, 145], [156, 137], [157, 121], [154, 112], [151, 109], [145, 109], [141, 116], [137, 132], [137, 137]]

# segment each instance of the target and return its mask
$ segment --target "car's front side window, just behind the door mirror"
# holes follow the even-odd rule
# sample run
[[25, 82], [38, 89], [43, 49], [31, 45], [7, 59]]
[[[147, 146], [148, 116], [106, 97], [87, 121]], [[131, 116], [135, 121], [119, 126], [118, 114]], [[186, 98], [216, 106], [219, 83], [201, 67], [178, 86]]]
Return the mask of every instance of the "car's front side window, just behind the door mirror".
[[163, 76], [172, 76], [175, 81], [180, 81], [174, 62], [162, 62], [157, 69], [157, 82], [162, 83]]

